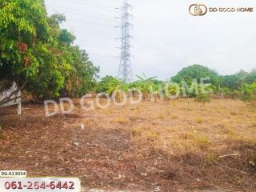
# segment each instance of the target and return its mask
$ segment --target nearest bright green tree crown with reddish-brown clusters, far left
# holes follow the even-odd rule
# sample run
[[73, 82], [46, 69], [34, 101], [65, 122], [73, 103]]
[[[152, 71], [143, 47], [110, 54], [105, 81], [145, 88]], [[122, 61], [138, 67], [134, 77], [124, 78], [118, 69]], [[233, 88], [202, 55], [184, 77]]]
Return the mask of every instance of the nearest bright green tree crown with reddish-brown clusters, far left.
[[38, 74], [38, 50], [49, 42], [50, 26], [42, 1], [0, 1], [0, 81], [18, 86]]

